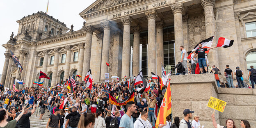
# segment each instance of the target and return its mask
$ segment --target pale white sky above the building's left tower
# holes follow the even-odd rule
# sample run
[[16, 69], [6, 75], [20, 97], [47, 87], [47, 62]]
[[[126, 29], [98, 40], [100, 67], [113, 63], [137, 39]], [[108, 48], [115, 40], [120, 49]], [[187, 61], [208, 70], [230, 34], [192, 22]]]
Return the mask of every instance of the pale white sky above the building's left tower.
[[[67, 27], [73, 24], [74, 31], [82, 28], [85, 21], [79, 13], [96, 0], [49, 0], [48, 15], [64, 22]], [[0, 0], [0, 74], [2, 74], [5, 51], [2, 44], [10, 39], [11, 32], [14, 36], [18, 32], [18, 23], [23, 16], [32, 15], [37, 11], [46, 12], [47, 0]]]

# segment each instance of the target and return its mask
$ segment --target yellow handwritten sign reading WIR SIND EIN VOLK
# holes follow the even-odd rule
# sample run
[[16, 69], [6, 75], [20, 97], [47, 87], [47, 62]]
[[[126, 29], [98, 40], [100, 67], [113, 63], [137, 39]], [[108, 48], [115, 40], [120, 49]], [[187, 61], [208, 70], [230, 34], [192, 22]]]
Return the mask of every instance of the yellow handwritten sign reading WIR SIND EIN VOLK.
[[226, 102], [211, 96], [207, 106], [219, 112], [223, 112], [226, 107]]

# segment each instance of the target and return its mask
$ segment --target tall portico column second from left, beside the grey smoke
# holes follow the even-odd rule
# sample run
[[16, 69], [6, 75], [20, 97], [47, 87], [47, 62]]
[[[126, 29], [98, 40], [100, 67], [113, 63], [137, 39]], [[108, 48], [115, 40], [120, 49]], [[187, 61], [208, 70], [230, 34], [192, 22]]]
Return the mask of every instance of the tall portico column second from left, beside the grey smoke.
[[101, 77], [100, 80], [104, 80], [105, 73], [108, 73], [108, 66], [106, 62], [109, 60], [109, 47], [110, 47], [110, 29], [111, 25], [109, 21], [102, 23], [104, 29], [103, 44], [102, 44], [102, 57], [101, 57]]

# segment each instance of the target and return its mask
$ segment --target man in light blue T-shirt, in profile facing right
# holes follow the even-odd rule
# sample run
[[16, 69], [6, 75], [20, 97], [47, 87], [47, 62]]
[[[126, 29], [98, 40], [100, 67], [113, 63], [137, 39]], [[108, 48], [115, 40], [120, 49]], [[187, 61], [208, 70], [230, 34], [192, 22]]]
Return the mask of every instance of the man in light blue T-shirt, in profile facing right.
[[119, 128], [134, 128], [132, 114], [136, 110], [135, 102], [130, 101], [126, 104], [126, 114], [120, 120]]

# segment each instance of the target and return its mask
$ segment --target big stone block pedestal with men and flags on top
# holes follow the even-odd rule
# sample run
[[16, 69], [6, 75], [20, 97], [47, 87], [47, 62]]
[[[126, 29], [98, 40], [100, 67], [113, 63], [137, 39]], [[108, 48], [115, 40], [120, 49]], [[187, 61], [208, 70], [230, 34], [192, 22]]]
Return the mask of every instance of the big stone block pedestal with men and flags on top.
[[[200, 124], [213, 125], [211, 114], [213, 109], [207, 107], [210, 96], [218, 98], [217, 83], [213, 73], [197, 75], [171, 75], [171, 100], [173, 117], [184, 118], [183, 111], [194, 111], [193, 116], [200, 116]], [[219, 112], [215, 111], [219, 124]]]

